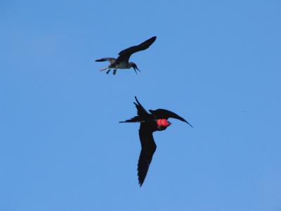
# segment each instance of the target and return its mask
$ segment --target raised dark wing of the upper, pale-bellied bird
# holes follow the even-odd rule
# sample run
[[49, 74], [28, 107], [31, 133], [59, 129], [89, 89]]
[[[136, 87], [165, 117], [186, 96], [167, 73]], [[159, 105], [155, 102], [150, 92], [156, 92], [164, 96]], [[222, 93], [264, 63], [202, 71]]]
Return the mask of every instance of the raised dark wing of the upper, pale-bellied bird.
[[151, 37], [150, 39], [145, 40], [143, 43], [139, 44], [138, 46], [131, 46], [128, 49], [120, 51], [118, 53], [119, 57], [117, 58], [117, 63], [119, 63], [122, 60], [129, 62], [129, 58], [133, 53], [148, 49], [148, 47], [151, 46], [152, 43], [154, 43], [155, 39], [156, 37]]

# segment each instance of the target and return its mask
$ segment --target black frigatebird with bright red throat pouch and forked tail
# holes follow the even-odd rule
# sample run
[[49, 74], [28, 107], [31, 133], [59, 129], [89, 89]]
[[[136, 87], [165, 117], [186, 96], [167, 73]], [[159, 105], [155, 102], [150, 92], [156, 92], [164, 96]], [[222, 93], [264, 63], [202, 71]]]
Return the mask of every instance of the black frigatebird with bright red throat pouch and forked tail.
[[[135, 96], [136, 98], [136, 96]], [[148, 173], [148, 167], [150, 166], [150, 162], [152, 160], [152, 156], [156, 151], [156, 144], [153, 139], [152, 133], [155, 131], [162, 131], [171, 125], [171, 122], [168, 119], [175, 118], [181, 120], [183, 122], [188, 123], [191, 127], [192, 125], [180, 117], [174, 112], [171, 112], [166, 109], [157, 109], [157, 110], [149, 110], [148, 113], [141, 103], [138, 102], [136, 98], [136, 103], [134, 103], [136, 109], [138, 110], [138, 115], [131, 118], [130, 120], [122, 121], [124, 122], [140, 122], [141, 127], [138, 130], [138, 134], [141, 140], [141, 154], [138, 158], [138, 183], [140, 186], [143, 185], [143, 181], [145, 181], [145, 176]]]

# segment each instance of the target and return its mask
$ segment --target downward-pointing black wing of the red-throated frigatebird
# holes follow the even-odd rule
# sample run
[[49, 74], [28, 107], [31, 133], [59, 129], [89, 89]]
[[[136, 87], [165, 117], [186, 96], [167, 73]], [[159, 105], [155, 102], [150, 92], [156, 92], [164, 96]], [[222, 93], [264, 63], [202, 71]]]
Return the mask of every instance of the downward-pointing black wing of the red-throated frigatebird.
[[148, 174], [148, 168], [152, 160], [152, 156], [156, 151], [156, 144], [152, 136], [152, 129], [148, 123], [141, 123], [138, 130], [141, 140], [141, 154], [138, 158], [138, 184], [143, 185], [145, 176]]

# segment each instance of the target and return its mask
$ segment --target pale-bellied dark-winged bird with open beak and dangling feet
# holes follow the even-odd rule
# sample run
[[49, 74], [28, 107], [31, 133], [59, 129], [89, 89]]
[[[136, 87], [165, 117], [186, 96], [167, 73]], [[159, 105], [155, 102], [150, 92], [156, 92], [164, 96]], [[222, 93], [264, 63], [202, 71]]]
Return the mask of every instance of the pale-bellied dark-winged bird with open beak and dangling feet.
[[[136, 53], [138, 51], [143, 51], [145, 49], [148, 49], [148, 47], [155, 41], [156, 37], [151, 37], [150, 39], [144, 41], [143, 43], [139, 44], [138, 46], [131, 46], [128, 49], [125, 49], [123, 51], [120, 51], [118, 53], [118, 58], [100, 58], [96, 60], [96, 62], [103, 62], [103, 61], [109, 61], [110, 65], [108, 65], [107, 68], [103, 68], [100, 71], [107, 70], [107, 74], [110, 72], [111, 69], [113, 70], [113, 75], [116, 74], [117, 69], [129, 69], [133, 68], [133, 70], [138, 70], [138, 67], [135, 63], [129, 62], [129, 58], [133, 53]], [[138, 70], [141, 72], [141, 70]], [[136, 72], [137, 74], [137, 72]]]

